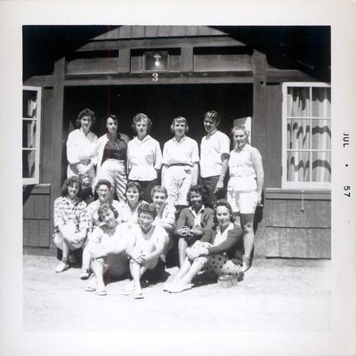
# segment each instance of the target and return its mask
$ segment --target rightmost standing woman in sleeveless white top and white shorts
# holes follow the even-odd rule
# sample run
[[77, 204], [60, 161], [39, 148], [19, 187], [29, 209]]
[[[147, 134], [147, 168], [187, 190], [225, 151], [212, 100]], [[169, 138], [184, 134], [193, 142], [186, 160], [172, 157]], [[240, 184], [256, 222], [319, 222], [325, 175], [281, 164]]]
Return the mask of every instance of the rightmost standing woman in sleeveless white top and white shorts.
[[263, 191], [263, 164], [260, 152], [248, 143], [249, 132], [245, 126], [236, 126], [232, 131], [236, 147], [230, 152], [229, 183], [227, 199], [235, 215], [239, 215], [244, 230], [244, 266], [251, 266], [251, 252], [255, 235], [253, 217], [256, 206], [261, 205]]

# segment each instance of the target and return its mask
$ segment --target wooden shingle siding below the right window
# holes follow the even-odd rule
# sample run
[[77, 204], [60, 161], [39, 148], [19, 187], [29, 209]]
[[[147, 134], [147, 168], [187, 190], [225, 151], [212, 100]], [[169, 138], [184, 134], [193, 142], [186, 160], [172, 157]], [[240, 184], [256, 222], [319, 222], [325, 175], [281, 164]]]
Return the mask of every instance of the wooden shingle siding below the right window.
[[331, 201], [266, 199], [255, 256], [331, 258]]

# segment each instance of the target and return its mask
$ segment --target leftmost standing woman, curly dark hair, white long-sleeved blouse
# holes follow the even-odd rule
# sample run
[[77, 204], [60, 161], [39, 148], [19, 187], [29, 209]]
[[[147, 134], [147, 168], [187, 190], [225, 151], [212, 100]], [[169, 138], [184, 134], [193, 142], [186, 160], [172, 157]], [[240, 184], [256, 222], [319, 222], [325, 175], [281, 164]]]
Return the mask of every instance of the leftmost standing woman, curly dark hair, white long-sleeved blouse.
[[94, 166], [98, 163], [96, 155], [97, 135], [90, 131], [95, 122], [93, 110], [84, 109], [79, 112], [76, 124], [77, 130], [70, 132], [67, 140], [67, 177], [79, 175], [88, 177], [88, 184], [93, 186], [95, 179]]

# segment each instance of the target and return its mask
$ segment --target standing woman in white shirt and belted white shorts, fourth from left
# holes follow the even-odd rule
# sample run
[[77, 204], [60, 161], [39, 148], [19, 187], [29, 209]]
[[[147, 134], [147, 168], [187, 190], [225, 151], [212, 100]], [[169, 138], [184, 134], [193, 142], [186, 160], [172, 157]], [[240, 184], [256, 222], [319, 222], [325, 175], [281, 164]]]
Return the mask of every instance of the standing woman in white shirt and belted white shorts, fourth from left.
[[163, 147], [162, 185], [167, 189], [168, 201], [177, 211], [188, 206], [189, 188], [197, 184], [199, 177], [199, 150], [197, 141], [188, 137], [187, 120], [173, 119], [171, 131], [174, 137]]

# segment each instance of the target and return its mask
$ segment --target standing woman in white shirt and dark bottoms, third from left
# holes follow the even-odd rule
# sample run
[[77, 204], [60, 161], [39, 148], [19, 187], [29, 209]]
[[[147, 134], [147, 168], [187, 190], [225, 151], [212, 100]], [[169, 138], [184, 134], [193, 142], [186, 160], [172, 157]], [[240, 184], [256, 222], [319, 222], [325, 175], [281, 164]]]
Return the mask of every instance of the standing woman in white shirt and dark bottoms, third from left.
[[127, 145], [128, 179], [140, 183], [143, 199], [152, 202], [151, 190], [157, 185], [162, 167], [162, 152], [157, 140], [148, 133], [152, 127], [150, 118], [137, 114], [132, 120], [132, 129], [137, 136]]

